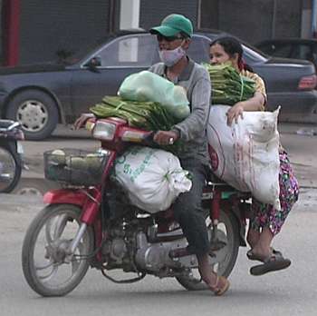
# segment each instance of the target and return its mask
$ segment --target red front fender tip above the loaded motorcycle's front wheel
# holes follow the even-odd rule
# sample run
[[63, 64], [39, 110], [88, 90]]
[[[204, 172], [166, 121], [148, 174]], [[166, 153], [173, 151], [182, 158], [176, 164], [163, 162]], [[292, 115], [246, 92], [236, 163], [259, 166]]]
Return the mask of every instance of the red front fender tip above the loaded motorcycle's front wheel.
[[87, 195], [78, 190], [58, 189], [44, 194], [45, 204], [74, 204], [82, 206], [87, 201]]

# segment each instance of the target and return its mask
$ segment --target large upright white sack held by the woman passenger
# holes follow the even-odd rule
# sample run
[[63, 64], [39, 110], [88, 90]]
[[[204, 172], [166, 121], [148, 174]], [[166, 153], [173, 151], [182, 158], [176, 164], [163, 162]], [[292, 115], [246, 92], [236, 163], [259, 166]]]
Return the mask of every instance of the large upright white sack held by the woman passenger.
[[210, 108], [208, 149], [213, 172], [242, 192], [251, 192], [260, 202], [280, 210], [279, 109], [244, 112], [238, 123], [226, 124], [227, 105]]

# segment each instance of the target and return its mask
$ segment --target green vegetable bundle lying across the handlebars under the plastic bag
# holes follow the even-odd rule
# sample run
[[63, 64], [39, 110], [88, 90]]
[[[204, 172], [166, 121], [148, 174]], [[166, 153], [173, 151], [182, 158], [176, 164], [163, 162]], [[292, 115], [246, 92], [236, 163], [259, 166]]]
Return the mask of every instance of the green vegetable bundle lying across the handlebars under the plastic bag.
[[155, 102], [122, 100], [119, 96], [105, 96], [101, 104], [91, 107], [97, 117], [116, 116], [127, 120], [130, 126], [146, 131], [169, 131], [176, 123], [168, 111]]

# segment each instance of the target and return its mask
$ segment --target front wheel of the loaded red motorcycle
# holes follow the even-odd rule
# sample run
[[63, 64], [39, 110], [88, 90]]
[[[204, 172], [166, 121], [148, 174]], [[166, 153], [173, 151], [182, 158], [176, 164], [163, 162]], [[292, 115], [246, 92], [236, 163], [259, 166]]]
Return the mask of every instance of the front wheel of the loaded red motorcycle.
[[93, 252], [94, 235], [87, 227], [75, 253], [64, 262], [67, 249], [80, 227], [81, 209], [72, 204], [55, 204], [43, 208], [31, 222], [22, 248], [24, 277], [30, 287], [42, 296], [63, 296], [72, 291], [85, 276]]

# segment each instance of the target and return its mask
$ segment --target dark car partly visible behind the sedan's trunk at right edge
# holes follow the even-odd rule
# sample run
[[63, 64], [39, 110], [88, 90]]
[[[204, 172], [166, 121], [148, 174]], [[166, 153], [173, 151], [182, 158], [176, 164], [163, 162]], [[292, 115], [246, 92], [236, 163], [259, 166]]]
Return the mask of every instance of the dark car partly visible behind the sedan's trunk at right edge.
[[308, 60], [317, 69], [316, 39], [274, 38], [259, 42], [255, 47], [274, 57]]

